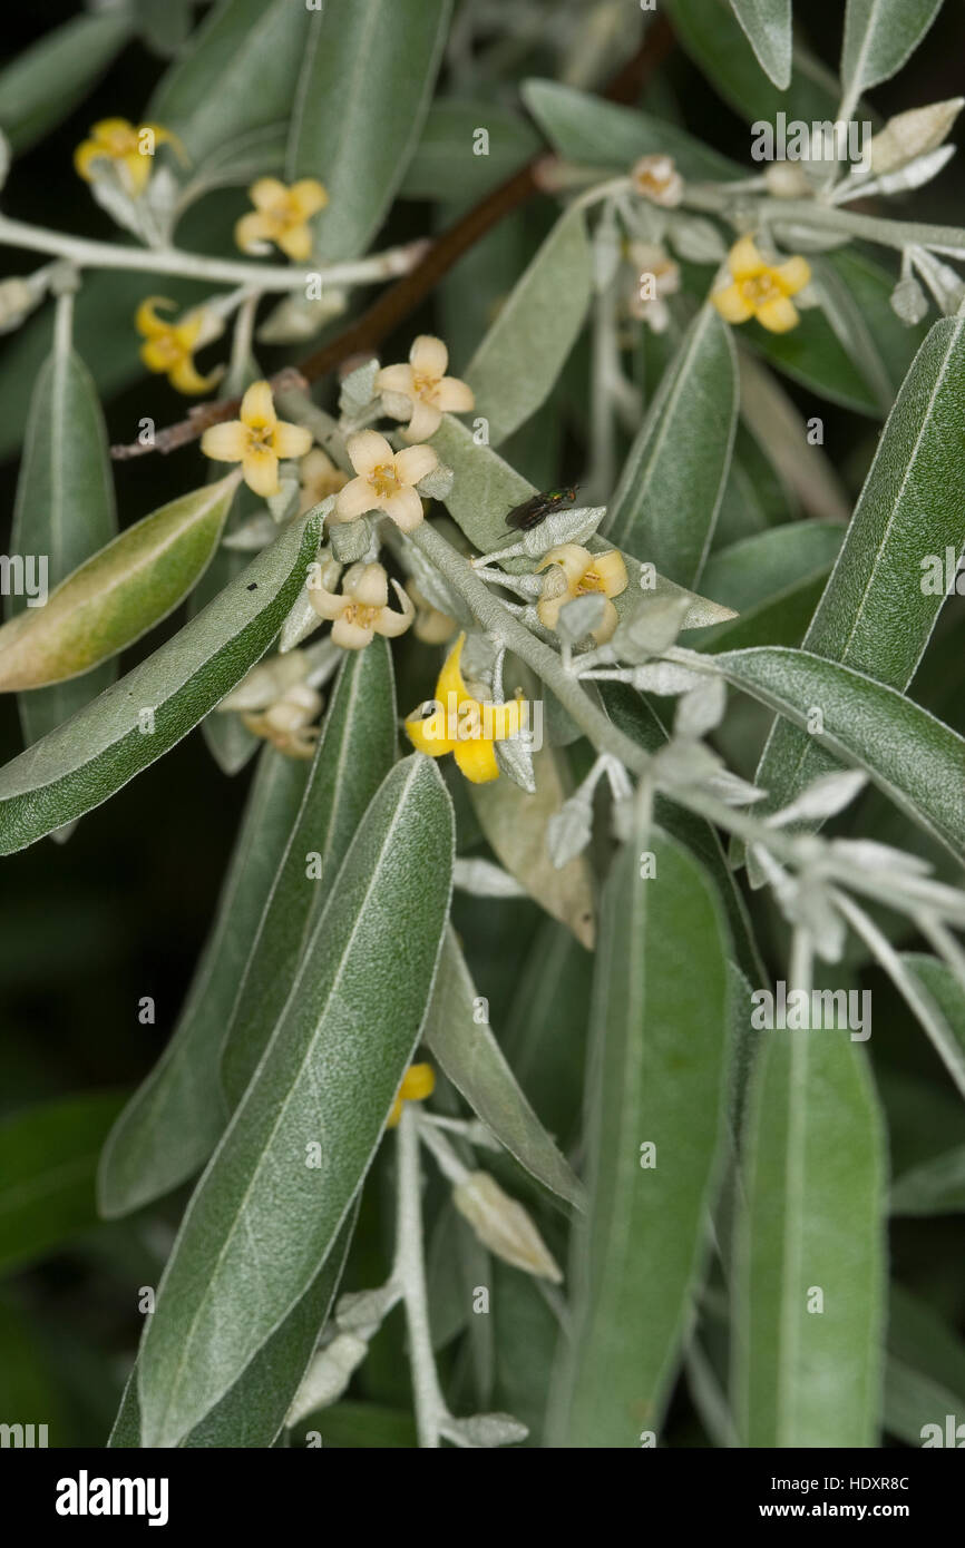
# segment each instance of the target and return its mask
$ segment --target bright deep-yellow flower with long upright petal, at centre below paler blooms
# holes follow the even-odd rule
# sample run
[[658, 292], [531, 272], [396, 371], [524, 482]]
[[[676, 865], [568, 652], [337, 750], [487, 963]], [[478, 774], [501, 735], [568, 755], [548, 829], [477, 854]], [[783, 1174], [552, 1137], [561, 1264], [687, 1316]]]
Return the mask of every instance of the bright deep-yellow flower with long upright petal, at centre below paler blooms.
[[516, 735], [522, 724], [522, 706], [474, 698], [458, 664], [465, 639], [460, 635], [452, 646], [435, 684], [435, 698], [406, 721], [406, 732], [418, 752], [428, 752], [431, 759], [454, 752], [466, 779], [486, 785], [499, 779], [494, 743]]

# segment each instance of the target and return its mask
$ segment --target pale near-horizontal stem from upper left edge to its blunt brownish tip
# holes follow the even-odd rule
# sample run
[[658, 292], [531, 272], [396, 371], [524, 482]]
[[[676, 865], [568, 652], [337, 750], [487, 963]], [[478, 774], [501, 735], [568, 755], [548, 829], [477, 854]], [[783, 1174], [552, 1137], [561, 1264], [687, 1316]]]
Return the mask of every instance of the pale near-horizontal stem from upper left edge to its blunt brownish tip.
[[112, 241], [88, 241], [85, 237], [29, 226], [6, 215], [0, 215], [0, 243], [25, 248], [28, 252], [53, 252], [81, 268], [178, 274], [181, 279], [211, 280], [212, 285], [249, 285], [262, 291], [304, 291], [308, 282], [318, 285], [319, 279], [322, 285], [364, 285], [406, 274], [426, 249], [424, 241], [412, 241], [352, 263], [333, 263], [327, 269], [300, 269], [293, 265], [280, 268], [209, 259], [200, 252], [181, 252], [180, 248], [122, 248]]

